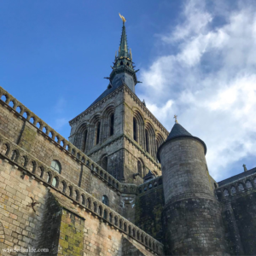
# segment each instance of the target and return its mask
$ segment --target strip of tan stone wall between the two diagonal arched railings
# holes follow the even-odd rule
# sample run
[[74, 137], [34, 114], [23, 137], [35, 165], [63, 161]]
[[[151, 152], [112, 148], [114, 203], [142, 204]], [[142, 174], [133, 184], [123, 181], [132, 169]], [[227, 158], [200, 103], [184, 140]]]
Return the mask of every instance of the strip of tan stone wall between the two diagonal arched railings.
[[[118, 192], [121, 189], [121, 184], [115, 178], [108, 175], [108, 172], [102, 170], [82, 152], [74, 155], [72, 150], [70, 152], [61, 147], [60, 143], [56, 143], [53, 138], [42, 132], [20, 113], [15, 112], [4, 102], [0, 102], [3, 104], [3, 106], [1, 105], [0, 119], [4, 120], [0, 122], [0, 133], [8, 139], [5, 141], [8, 147], [5, 154], [12, 158], [15, 144], [19, 145], [20, 149], [16, 148], [17, 161], [24, 160], [24, 165], [27, 168], [33, 168], [33, 172], [43, 170], [44, 175], [50, 173], [51, 178], [58, 173], [49, 169], [48, 166], [52, 160], [58, 160], [61, 164], [61, 177], [67, 178], [68, 181], [75, 183], [81, 189], [85, 189], [99, 200], [102, 200], [102, 195], [107, 195], [111, 207], [118, 212], [121, 211]], [[11, 142], [15, 144], [11, 144]], [[2, 150], [4, 149], [2, 148]], [[32, 166], [32, 157], [37, 159], [33, 162], [35, 166]], [[92, 171], [98, 175], [93, 175]], [[68, 188], [68, 184], [66, 187]]]

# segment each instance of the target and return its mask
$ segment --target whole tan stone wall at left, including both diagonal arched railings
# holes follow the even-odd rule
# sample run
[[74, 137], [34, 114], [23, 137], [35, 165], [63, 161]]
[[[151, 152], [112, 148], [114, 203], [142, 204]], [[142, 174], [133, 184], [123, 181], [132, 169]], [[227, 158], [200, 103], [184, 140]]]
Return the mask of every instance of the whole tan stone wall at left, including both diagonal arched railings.
[[[1, 247], [44, 245], [52, 255], [67, 254], [71, 248], [79, 254], [81, 227], [85, 228], [89, 219], [94, 223], [90, 226], [91, 236], [87, 235], [88, 241], [83, 239], [83, 252], [88, 255], [109, 255], [112, 245], [91, 246], [93, 243], [89, 242], [107, 239], [109, 230], [118, 234], [116, 245], [122, 244], [125, 236], [145, 255], [162, 253], [159, 241], [120, 215], [125, 212], [122, 202], [127, 193], [123, 184], [0, 88], [2, 95], [6, 100], [0, 101], [0, 119], [4, 120], [0, 122], [0, 207], [4, 209], [0, 212]], [[52, 160], [61, 163], [61, 173], [49, 167]], [[135, 185], [129, 185], [129, 189], [136, 195]], [[108, 196], [109, 207], [102, 204], [102, 195]], [[31, 196], [39, 203], [34, 206], [35, 212], [28, 206]], [[71, 226], [66, 225], [69, 222]], [[102, 224], [104, 235], [99, 232]], [[63, 228], [65, 225], [67, 229]], [[79, 239], [68, 236], [73, 227], [74, 234], [80, 234]], [[121, 248], [115, 253], [120, 252]]]

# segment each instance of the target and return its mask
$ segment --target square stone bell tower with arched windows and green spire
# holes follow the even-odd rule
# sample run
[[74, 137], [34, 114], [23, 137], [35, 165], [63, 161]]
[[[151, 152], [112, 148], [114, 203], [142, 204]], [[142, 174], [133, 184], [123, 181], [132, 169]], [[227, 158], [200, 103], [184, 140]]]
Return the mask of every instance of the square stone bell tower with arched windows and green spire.
[[123, 183], [143, 183], [150, 170], [160, 175], [157, 148], [168, 131], [135, 93], [137, 71], [128, 51], [125, 21], [107, 89], [70, 121], [69, 140]]

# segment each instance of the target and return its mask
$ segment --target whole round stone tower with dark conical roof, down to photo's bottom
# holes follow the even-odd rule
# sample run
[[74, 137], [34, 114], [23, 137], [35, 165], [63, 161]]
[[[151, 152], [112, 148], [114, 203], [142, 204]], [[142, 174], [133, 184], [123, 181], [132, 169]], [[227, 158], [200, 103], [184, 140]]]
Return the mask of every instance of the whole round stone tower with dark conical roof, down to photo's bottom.
[[221, 207], [207, 170], [206, 144], [175, 124], [158, 150], [166, 255], [224, 255]]

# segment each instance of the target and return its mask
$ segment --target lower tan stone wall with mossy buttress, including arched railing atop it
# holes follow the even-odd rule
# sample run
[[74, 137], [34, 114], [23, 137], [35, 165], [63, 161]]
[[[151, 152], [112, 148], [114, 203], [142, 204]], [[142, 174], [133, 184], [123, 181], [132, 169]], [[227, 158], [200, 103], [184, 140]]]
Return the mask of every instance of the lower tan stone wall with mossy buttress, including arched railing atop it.
[[[7, 158], [1, 158], [0, 178], [1, 248], [44, 247], [49, 250], [38, 255], [65, 255], [71, 251], [72, 255], [82, 252], [122, 255], [122, 238], [126, 237], [145, 255], [153, 255], [153, 251], [161, 253], [162, 245], [158, 241], [86, 192], [84, 195], [90, 204], [85, 207], [81, 201], [62, 194], [47, 180]], [[28, 206], [31, 196], [39, 203], [34, 207], [35, 212]], [[3, 255], [9, 253], [3, 252]]]

